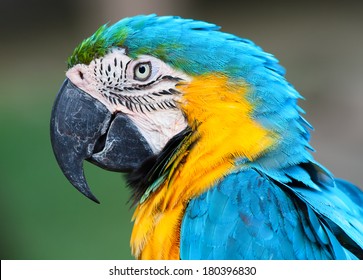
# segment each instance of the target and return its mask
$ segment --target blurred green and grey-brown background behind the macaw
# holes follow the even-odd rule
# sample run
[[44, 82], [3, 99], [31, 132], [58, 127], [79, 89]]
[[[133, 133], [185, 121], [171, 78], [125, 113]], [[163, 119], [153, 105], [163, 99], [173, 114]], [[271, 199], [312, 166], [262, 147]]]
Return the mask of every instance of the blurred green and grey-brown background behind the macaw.
[[316, 158], [363, 186], [362, 3], [1, 0], [0, 257], [132, 258], [122, 175], [86, 164], [101, 204], [81, 196], [56, 164], [49, 118], [74, 47], [101, 24], [136, 14], [214, 22], [275, 54], [306, 97]]

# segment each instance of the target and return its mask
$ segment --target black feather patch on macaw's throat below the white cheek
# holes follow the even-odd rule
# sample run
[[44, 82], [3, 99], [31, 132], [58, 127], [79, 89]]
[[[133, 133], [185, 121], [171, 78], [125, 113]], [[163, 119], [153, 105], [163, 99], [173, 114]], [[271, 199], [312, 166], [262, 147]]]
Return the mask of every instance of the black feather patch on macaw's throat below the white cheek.
[[191, 128], [187, 127], [171, 138], [158, 155], [149, 157], [138, 169], [133, 170], [127, 175], [127, 183], [132, 191], [129, 200], [131, 201], [131, 206], [135, 206], [148, 187], [162, 176], [166, 163], [178, 152], [181, 142], [185, 138], [189, 138], [192, 133]]

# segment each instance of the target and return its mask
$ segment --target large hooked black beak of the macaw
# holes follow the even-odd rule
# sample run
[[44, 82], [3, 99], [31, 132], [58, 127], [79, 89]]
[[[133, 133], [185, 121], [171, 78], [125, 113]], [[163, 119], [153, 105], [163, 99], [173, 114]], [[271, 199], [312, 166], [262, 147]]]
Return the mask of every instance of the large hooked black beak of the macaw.
[[68, 79], [54, 102], [50, 131], [53, 151], [63, 174], [77, 190], [97, 203], [84, 176], [84, 160], [106, 170], [128, 172], [153, 155], [145, 138], [126, 115], [112, 114]]

